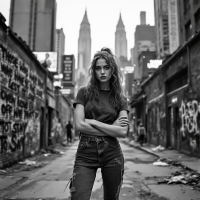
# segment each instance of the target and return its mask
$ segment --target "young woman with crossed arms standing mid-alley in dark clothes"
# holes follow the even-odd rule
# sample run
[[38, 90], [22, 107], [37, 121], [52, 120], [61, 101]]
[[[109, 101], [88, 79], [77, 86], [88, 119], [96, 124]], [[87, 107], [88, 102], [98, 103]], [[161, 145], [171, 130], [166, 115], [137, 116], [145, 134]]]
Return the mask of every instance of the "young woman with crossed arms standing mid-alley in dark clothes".
[[109, 48], [94, 55], [90, 75], [88, 85], [79, 89], [73, 104], [80, 142], [70, 183], [71, 199], [90, 199], [97, 169], [101, 168], [104, 199], [116, 200], [124, 173], [117, 138], [126, 137], [129, 122], [118, 61]]

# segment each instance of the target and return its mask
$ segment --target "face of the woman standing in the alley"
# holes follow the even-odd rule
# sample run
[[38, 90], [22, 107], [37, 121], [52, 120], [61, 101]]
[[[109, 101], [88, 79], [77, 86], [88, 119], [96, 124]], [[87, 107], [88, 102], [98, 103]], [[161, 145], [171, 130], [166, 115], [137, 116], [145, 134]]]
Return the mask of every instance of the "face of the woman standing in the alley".
[[97, 60], [94, 70], [100, 83], [106, 83], [110, 81], [112, 75], [111, 67], [106, 63], [104, 58], [99, 58]]

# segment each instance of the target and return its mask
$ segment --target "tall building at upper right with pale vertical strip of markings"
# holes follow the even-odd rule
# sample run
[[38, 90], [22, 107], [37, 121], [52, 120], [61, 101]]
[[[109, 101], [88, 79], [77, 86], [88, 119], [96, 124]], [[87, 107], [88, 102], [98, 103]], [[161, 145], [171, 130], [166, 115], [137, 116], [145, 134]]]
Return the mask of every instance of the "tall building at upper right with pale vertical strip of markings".
[[[188, 1], [189, 2], [189, 1]], [[156, 54], [164, 59], [180, 45], [177, 0], [154, 0]]]

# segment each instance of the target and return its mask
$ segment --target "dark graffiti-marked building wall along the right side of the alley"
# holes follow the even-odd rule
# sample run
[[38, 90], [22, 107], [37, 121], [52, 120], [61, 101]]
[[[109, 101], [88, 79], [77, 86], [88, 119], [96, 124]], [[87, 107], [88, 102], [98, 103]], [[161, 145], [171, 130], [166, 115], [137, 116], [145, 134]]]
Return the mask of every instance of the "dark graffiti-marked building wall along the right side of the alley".
[[199, 74], [200, 33], [197, 33], [142, 86], [150, 143], [200, 157]]

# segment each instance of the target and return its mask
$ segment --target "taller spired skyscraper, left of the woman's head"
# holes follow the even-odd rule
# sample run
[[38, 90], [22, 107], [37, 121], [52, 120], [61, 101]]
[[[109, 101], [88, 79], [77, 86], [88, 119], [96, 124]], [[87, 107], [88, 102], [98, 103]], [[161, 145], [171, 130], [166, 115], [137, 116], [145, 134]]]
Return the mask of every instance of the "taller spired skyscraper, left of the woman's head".
[[76, 86], [80, 87], [87, 83], [88, 70], [91, 62], [91, 37], [90, 23], [85, 11], [81, 22], [78, 38], [78, 67], [76, 70]]

